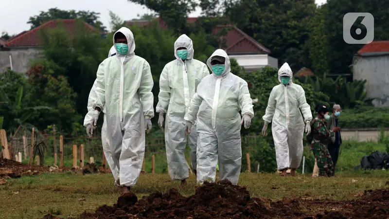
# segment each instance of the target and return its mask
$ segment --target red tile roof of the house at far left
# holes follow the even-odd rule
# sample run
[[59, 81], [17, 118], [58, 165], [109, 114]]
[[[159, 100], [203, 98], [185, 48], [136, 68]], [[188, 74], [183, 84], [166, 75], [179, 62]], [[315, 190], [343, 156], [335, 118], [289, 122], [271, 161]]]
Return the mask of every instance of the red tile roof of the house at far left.
[[[57, 27], [58, 22], [63, 22], [63, 25], [65, 27], [65, 30], [71, 34], [74, 34], [76, 31], [76, 19], [57, 19], [57, 20], [50, 20], [39, 27], [36, 27], [30, 31], [27, 31], [25, 33], [21, 33], [18, 36], [10, 39], [5, 44], [6, 47], [24, 47], [24, 46], [39, 46], [39, 30], [41, 29], [54, 29]], [[84, 27], [91, 31], [99, 31], [101, 34], [102, 32], [96, 28], [94, 28], [92, 25], [84, 22]]]

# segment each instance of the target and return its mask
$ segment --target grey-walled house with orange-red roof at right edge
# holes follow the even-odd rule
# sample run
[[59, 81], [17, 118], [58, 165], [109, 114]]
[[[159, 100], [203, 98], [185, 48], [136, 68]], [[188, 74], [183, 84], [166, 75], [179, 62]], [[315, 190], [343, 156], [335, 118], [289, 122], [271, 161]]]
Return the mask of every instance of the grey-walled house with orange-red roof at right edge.
[[353, 60], [354, 80], [366, 80], [375, 107], [389, 107], [389, 40], [364, 45]]

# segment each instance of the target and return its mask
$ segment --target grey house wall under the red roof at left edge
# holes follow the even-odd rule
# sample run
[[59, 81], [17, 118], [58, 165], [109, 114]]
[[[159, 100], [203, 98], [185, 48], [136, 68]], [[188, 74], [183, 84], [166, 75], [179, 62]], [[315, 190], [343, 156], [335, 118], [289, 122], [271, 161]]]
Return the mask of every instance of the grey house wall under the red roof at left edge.
[[9, 55], [12, 57], [12, 67], [15, 72], [26, 73], [30, 67], [30, 61], [40, 56], [36, 48], [20, 48], [10, 51], [0, 51], [0, 73], [11, 68]]

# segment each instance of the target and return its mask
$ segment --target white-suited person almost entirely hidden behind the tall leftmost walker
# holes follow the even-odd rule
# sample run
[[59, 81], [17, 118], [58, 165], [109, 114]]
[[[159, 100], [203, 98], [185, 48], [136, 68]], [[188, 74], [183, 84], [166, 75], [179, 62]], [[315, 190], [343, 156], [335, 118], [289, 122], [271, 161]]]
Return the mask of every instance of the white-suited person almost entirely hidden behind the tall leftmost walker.
[[[109, 50], [108, 58], [113, 56], [113, 55], [116, 55], [115, 46], [112, 46], [111, 49]], [[95, 80], [93, 83], [92, 89], [89, 92], [88, 107], [87, 107], [88, 113], [84, 119], [84, 127], [87, 128], [87, 134], [89, 137], [93, 136], [93, 128], [94, 127], [92, 127], [92, 124], [90, 123], [90, 119], [92, 118], [92, 115], [94, 112], [92, 105], [93, 105], [93, 102], [96, 100], [96, 93], [95, 93], [96, 85], [97, 85], [97, 81]], [[118, 182], [119, 182], [118, 181], [119, 170], [118, 170], [118, 167], [116, 166], [116, 164], [113, 162], [109, 142], [107, 141], [107, 138], [106, 138], [106, 110], [105, 109], [103, 109], [103, 113], [104, 113], [104, 121], [103, 121], [103, 127], [101, 128], [101, 142], [103, 144], [103, 152], [104, 152], [104, 155], [106, 156], [106, 162], [108, 163], [108, 166], [111, 169], [113, 178], [115, 179], [115, 185], [119, 186], [119, 184], [118, 184]]]

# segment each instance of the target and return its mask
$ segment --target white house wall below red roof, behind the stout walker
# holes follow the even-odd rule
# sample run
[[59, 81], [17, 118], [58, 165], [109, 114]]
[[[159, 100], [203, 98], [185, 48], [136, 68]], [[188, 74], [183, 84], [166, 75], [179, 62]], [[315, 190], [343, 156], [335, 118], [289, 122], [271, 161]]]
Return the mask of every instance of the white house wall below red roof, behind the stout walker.
[[278, 59], [269, 55], [229, 55], [229, 57], [235, 58], [246, 72], [255, 72], [265, 66], [278, 68]]

